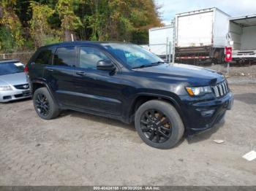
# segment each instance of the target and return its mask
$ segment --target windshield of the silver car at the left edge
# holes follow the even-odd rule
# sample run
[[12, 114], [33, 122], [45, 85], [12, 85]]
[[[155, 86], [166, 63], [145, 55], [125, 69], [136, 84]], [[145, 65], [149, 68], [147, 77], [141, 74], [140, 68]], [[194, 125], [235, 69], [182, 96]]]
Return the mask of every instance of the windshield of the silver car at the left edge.
[[8, 62], [8, 63], [0, 63], [0, 76], [7, 75], [7, 74], [15, 74], [23, 72], [24, 65], [23, 63], [15, 63], [15, 62]]

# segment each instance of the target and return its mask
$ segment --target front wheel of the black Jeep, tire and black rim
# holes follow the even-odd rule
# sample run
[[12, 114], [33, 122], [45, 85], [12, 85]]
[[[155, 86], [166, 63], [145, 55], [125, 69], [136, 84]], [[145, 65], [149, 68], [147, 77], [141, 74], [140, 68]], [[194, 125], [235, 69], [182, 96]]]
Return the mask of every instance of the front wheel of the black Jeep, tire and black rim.
[[[154, 111], [153, 114], [152, 111]], [[157, 122], [148, 120], [152, 116]], [[168, 122], [165, 123], [166, 121]], [[176, 146], [184, 135], [184, 124], [181, 117], [176, 109], [166, 101], [151, 100], [142, 104], [135, 113], [135, 128], [146, 144], [157, 149], [170, 149]], [[151, 138], [152, 134], [153, 139]], [[167, 137], [169, 138], [167, 139]]]

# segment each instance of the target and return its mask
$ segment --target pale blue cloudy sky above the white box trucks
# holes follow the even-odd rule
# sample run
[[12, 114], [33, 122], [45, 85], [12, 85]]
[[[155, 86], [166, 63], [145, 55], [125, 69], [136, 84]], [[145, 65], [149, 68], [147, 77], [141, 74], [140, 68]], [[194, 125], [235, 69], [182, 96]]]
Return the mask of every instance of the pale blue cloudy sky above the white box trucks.
[[176, 13], [217, 7], [233, 17], [256, 14], [256, 0], [155, 0], [162, 23], [170, 24]]

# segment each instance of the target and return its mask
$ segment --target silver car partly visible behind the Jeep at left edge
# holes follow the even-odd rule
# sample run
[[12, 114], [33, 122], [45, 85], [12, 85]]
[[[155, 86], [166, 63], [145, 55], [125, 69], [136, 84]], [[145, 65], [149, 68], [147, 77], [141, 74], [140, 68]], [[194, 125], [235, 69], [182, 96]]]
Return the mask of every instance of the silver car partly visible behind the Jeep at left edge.
[[0, 61], [0, 102], [31, 97], [24, 65], [16, 60]]

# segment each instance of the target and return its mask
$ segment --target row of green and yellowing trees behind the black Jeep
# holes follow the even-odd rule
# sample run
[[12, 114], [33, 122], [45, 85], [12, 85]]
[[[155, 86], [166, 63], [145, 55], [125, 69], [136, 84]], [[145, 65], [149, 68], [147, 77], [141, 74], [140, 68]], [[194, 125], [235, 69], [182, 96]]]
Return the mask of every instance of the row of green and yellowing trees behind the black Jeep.
[[78, 40], [146, 43], [162, 26], [154, 0], [0, 0], [0, 50]]

